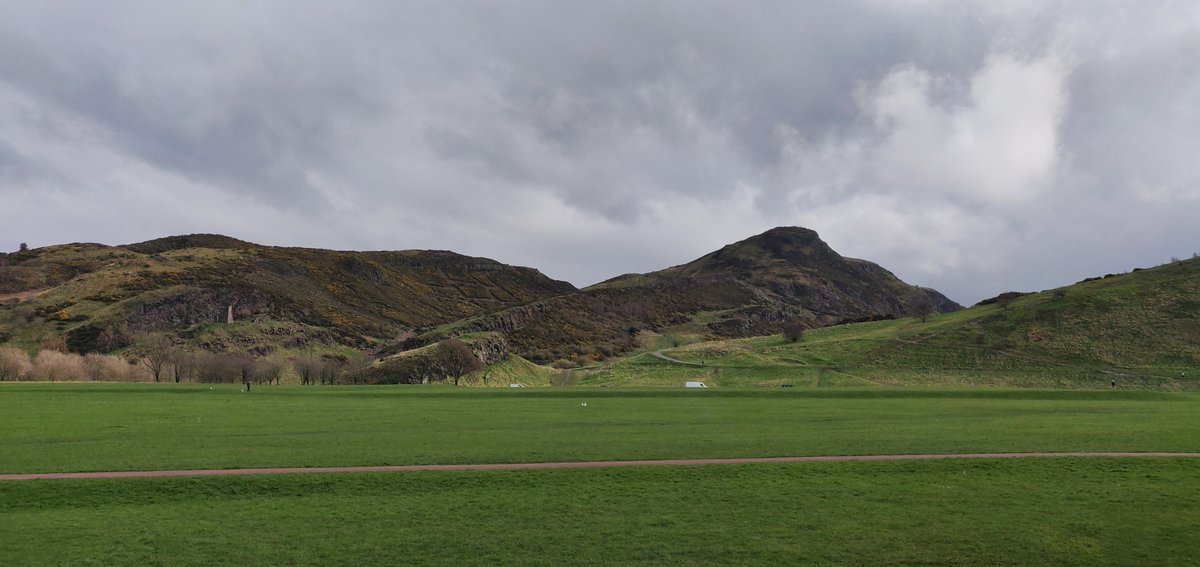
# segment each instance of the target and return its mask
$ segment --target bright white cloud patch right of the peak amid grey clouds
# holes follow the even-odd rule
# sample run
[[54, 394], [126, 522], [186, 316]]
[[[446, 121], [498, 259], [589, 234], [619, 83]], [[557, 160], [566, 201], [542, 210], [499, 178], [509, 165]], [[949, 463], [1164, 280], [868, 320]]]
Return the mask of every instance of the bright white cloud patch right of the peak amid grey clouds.
[[[1032, 60], [994, 54], [961, 97], [952, 78], [911, 65], [892, 71], [863, 95], [883, 136], [870, 163], [876, 178], [990, 205], [1037, 198], [1063, 161], [1066, 60], [1058, 53]], [[940, 102], [937, 91], [952, 94]]]

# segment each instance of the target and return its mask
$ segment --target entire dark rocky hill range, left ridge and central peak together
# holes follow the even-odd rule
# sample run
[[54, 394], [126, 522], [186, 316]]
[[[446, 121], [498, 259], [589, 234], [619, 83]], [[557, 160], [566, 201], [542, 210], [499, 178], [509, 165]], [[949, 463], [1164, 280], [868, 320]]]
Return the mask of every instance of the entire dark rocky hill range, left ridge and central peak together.
[[[703, 338], [878, 320], [956, 304], [804, 228], [576, 290], [530, 268], [446, 251], [340, 252], [188, 234], [5, 255], [0, 344], [114, 352], [149, 333], [214, 352], [313, 345], [398, 356], [450, 336], [538, 362], [606, 358], [647, 333]], [[503, 359], [508, 352], [490, 353]]]

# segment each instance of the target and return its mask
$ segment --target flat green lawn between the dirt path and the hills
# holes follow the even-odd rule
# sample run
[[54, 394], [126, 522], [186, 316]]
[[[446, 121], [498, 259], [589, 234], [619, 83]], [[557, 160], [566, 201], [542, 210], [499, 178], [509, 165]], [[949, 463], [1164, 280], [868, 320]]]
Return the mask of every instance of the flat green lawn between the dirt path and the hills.
[[1200, 438], [1200, 398], [1162, 392], [0, 386], [0, 472], [1188, 452]]

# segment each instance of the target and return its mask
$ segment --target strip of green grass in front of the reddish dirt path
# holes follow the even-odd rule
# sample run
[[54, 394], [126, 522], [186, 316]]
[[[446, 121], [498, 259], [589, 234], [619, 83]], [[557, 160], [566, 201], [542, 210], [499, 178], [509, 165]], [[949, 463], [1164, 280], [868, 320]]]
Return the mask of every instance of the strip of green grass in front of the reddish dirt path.
[[0, 484], [5, 565], [1200, 561], [1171, 459], [814, 462]]

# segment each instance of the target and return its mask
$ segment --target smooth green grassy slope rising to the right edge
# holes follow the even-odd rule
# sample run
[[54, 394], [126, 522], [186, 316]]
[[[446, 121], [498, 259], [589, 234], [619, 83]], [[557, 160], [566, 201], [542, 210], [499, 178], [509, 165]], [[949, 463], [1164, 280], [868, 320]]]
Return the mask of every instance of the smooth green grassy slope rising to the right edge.
[[[991, 384], [1194, 388], [1200, 383], [1200, 261], [1082, 282], [919, 320], [700, 342], [576, 372], [584, 383], [678, 386]], [[1182, 376], [1181, 376], [1182, 375]]]

